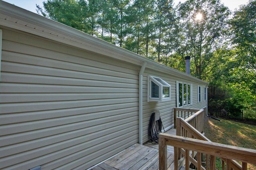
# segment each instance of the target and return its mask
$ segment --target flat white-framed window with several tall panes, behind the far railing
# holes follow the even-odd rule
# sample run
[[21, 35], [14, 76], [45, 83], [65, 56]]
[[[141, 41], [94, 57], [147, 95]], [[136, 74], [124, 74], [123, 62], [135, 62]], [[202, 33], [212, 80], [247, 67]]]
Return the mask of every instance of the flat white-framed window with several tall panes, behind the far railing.
[[192, 104], [192, 84], [176, 82], [177, 107]]

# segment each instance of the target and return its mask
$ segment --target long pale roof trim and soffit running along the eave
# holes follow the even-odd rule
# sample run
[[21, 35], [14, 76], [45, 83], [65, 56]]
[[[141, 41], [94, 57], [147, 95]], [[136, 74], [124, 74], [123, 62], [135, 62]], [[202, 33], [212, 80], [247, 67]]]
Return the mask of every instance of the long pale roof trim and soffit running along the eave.
[[146, 57], [142, 57], [141, 55], [88, 35], [62, 23], [50, 20], [1, 0], [0, 4], [0, 25], [32, 33], [34, 35], [88, 51], [93, 51], [94, 53], [99, 53], [128, 63], [141, 66], [143, 62], [147, 62], [147, 68], [161, 72], [170, 72], [172, 75], [202, 84], [208, 84], [207, 82], [190, 76], [184, 72], [170, 68], [164, 64], [157, 63]]

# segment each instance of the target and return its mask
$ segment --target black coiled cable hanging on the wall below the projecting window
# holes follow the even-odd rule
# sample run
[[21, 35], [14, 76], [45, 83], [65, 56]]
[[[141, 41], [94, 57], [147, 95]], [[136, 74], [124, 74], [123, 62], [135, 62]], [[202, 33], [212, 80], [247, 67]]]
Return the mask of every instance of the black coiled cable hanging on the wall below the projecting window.
[[164, 129], [161, 117], [155, 121], [155, 112], [152, 113], [148, 124], [148, 139], [152, 144], [158, 144], [158, 134], [161, 133], [162, 127]]

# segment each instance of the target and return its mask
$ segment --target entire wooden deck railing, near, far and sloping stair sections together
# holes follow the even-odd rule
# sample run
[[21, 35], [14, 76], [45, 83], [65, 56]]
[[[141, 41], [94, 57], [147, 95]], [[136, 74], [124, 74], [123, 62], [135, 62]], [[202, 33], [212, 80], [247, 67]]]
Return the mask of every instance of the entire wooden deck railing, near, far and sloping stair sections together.
[[[174, 115], [176, 115], [175, 113], [177, 113], [177, 111], [181, 112], [181, 110], [184, 111], [185, 109], [175, 108]], [[186, 112], [189, 112], [189, 111], [187, 110]], [[192, 111], [190, 110], [190, 112]], [[223, 170], [224, 170], [225, 164], [226, 164], [227, 170], [230, 170], [231, 168], [233, 170], [246, 170], [247, 162], [250, 162], [250, 163], [256, 162], [256, 150], [233, 147], [230, 145], [222, 145], [218, 143], [212, 143], [208, 138], [202, 135], [203, 124], [204, 124], [203, 123], [204, 110], [194, 109], [193, 112], [194, 113], [186, 113], [188, 115], [189, 114], [192, 114], [192, 115], [190, 115], [190, 117], [185, 117], [185, 120], [184, 118], [179, 117], [179, 115], [177, 114], [177, 116], [175, 117], [176, 136], [170, 136], [166, 134], [159, 135], [160, 170], [166, 169], [166, 165], [165, 165], [166, 153], [165, 152], [166, 152], [167, 145], [174, 146], [174, 169], [175, 170], [178, 169], [178, 160], [181, 158], [181, 156], [185, 157], [186, 170], [189, 169], [189, 166], [191, 163], [198, 170], [208, 170], [209, 168], [211, 170], [215, 170], [216, 156], [222, 159]], [[175, 144], [175, 142], [177, 143]], [[203, 144], [205, 143], [207, 143], [207, 146], [209, 148], [204, 147]], [[224, 149], [225, 147], [223, 146], [225, 146], [227, 149]], [[204, 153], [206, 157], [206, 160], [205, 160], [206, 168], [202, 166], [202, 153]], [[236, 160], [242, 161], [242, 166], [235, 160], [232, 160], [233, 158], [235, 158], [233, 157], [234, 153], [236, 154], [241, 153], [241, 155], [238, 156]], [[210, 165], [208, 163], [209, 155], [210, 155]], [[248, 156], [250, 158], [248, 158]]]

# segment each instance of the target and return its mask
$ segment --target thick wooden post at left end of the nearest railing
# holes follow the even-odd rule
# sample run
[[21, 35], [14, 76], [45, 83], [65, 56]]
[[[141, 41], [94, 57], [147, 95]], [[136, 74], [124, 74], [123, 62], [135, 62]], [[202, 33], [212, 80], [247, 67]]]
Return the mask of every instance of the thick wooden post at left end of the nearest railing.
[[159, 170], [167, 170], [167, 145], [163, 137], [158, 138], [159, 143]]

